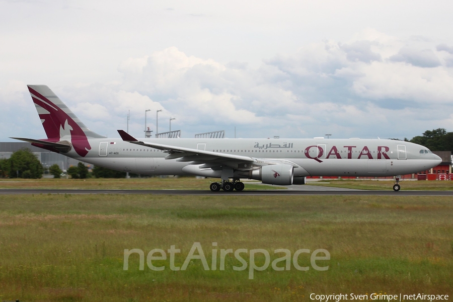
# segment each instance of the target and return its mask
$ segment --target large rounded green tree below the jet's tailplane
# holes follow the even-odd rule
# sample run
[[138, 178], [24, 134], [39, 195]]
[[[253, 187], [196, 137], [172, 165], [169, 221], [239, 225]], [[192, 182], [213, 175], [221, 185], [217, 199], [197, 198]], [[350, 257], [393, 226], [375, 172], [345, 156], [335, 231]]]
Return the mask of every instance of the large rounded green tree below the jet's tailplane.
[[29, 148], [17, 150], [8, 160], [10, 178], [41, 178], [44, 169]]

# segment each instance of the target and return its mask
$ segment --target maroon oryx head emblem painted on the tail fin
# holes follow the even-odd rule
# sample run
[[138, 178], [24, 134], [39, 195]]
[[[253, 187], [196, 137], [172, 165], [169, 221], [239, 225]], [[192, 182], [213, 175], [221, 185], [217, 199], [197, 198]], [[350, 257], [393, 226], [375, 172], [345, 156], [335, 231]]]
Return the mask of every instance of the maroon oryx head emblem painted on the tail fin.
[[41, 95], [36, 90], [28, 87], [33, 102], [47, 112], [40, 112], [42, 121], [49, 141], [58, 142], [63, 136], [70, 139], [72, 147], [78, 155], [85, 157], [91, 150], [87, 135], [82, 128], [60, 107]]

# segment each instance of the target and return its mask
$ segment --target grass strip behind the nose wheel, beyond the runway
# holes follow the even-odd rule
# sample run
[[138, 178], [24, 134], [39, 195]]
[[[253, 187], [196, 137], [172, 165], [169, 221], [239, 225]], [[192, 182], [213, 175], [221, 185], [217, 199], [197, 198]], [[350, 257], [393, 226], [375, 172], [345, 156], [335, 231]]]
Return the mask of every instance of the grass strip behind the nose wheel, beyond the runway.
[[[308, 183], [309, 185], [360, 189], [360, 190], [393, 190], [393, 181], [384, 180], [336, 180], [326, 179], [323, 181]], [[422, 191], [453, 191], [453, 181], [444, 180], [420, 180], [420, 181], [400, 181], [402, 191], [422, 190]]]

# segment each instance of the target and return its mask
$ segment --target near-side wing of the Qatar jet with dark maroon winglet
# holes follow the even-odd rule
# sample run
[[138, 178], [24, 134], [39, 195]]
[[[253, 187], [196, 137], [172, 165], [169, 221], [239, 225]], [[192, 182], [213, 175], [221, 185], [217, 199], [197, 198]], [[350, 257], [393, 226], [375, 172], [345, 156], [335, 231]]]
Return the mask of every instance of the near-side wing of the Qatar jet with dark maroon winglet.
[[[203, 165], [200, 168], [211, 168], [213, 170], [221, 169], [221, 166], [229, 166], [239, 170], [250, 170], [253, 166], [267, 166], [275, 165], [284, 162], [297, 167], [296, 164], [285, 160], [265, 160], [257, 159], [248, 156], [210, 152], [206, 150], [198, 150], [180, 146], [166, 145], [154, 142], [139, 141], [135, 137], [129, 135], [124, 130], [118, 130], [121, 138], [134, 144], [152, 147], [155, 149], [163, 150], [169, 155], [165, 157], [166, 160], [178, 159], [179, 162], [191, 162], [191, 165]], [[249, 165], [247, 165], [249, 164]], [[250, 165], [253, 164], [253, 165]]]

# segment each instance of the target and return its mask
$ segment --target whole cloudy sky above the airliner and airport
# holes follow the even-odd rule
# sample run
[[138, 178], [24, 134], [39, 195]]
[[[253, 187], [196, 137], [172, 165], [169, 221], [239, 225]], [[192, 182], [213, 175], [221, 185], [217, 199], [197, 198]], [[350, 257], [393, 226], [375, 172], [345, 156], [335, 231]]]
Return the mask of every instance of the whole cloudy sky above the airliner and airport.
[[0, 0], [0, 141], [26, 84], [93, 131], [412, 138], [453, 131], [453, 2]]

